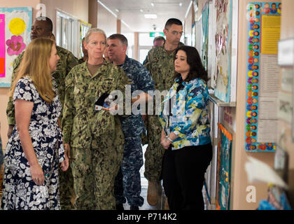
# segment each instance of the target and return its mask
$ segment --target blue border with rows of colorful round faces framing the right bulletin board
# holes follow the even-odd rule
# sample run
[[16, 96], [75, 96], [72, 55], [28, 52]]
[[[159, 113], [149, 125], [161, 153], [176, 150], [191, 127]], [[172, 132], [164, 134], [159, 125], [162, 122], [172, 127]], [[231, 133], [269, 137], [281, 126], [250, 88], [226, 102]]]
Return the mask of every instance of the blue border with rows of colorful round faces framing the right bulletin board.
[[[265, 8], [265, 4], [269, 4], [269, 8]], [[273, 4], [276, 4], [276, 9], [272, 8]], [[250, 2], [247, 5], [245, 150], [248, 152], [274, 152], [276, 148], [273, 143], [257, 142], [262, 15], [281, 15], [281, 2]]]

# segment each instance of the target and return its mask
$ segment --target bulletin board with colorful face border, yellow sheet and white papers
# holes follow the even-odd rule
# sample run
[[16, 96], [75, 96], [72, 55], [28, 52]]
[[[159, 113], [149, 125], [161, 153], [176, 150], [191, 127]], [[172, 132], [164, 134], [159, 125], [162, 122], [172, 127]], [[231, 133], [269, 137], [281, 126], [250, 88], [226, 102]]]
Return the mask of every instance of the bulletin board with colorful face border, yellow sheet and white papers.
[[245, 150], [274, 152], [279, 97], [277, 48], [281, 3], [252, 2], [247, 6]]

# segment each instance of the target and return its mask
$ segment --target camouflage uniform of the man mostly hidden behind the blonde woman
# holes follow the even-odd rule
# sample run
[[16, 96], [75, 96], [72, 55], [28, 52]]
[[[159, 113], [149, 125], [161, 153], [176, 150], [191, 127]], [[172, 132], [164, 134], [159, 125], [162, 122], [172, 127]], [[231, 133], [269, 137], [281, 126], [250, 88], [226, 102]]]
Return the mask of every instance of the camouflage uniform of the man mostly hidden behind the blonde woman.
[[[64, 94], [65, 94], [65, 83], [64, 80], [66, 75], [71, 71], [73, 66], [78, 64], [78, 59], [69, 51], [59, 46], [56, 46], [57, 55], [60, 57], [57, 62], [57, 69], [52, 76], [55, 78], [57, 83], [57, 89], [59, 92], [59, 99], [64, 104]], [[11, 83], [15, 79], [15, 71], [18, 69], [20, 62], [22, 61], [22, 57], [25, 52], [22, 52], [18, 57], [15, 58], [13, 62], [13, 74], [11, 78]], [[15, 109], [13, 106], [13, 100], [9, 97], [8, 106], [6, 109], [6, 115], [8, 118], [8, 125], [15, 125]], [[59, 116], [59, 119], [62, 120], [62, 113]], [[71, 197], [73, 195], [73, 177], [71, 174], [71, 167], [66, 170], [66, 172], [62, 172], [59, 168], [59, 192], [60, 192], [60, 204], [62, 209], [71, 209]]]

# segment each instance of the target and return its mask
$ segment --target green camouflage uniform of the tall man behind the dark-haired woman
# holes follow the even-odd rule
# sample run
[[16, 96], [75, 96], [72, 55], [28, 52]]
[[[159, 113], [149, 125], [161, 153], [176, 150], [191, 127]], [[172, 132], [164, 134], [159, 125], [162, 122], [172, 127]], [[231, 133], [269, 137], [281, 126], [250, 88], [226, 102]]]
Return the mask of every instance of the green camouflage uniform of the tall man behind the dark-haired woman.
[[[179, 43], [179, 47], [183, 43]], [[165, 45], [151, 49], [146, 57], [145, 66], [150, 71], [155, 82], [155, 90], [160, 92], [167, 90], [174, 84], [174, 52], [168, 53]], [[154, 99], [155, 101], [155, 99]], [[160, 100], [163, 101], [163, 97]], [[162, 158], [165, 149], [160, 144], [162, 127], [155, 115], [155, 103], [153, 115], [148, 115], [145, 120], [147, 137], [144, 144], [148, 144], [145, 152], [145, 172], [144, 176], [148, 181], [159, 181], [162, 179]]]

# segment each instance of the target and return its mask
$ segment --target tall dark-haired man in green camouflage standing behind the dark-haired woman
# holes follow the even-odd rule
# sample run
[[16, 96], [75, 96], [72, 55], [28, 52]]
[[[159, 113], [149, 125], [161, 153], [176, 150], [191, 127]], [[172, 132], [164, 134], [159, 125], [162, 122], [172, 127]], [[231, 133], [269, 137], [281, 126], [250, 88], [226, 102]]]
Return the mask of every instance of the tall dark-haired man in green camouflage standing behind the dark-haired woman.
[[[174, 52], [176, 48], [183, 45], [180, 43], [183, 34], [182, 22], [174, 18], [167, 20], [163, 32], [166, 36], [165, 44], [151, 49], [144, 64], [151, 72], [155, 82], [155, 90], [160, 92], [168, 91], [174, 84]], [[162, 179], [162, 158], [165, 153], [165, 149], [160, 144], [162, 127], [158, 115], [155, 115], [155, 110], [152, 116], [148, 115], [145, 125], [148, 144], [144, 172], [144, 176], [148, 179], [147, 201], [155, 206], [158, 203], [157, 188], [158, 181]]]

